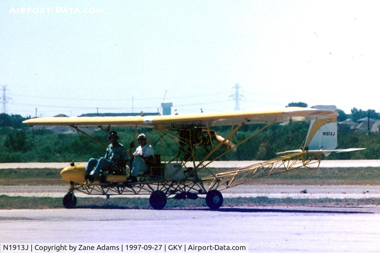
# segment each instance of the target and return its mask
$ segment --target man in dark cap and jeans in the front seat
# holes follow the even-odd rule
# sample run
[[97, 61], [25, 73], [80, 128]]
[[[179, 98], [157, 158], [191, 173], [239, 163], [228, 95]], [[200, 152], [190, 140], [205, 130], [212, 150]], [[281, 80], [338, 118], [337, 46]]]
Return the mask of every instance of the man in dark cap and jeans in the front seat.
[[100, 171], [108, 172], [111, 168], [125, 168], [125, 164], [129, 160], [127, 152], [122, 144], [118, 142], [119, 136], [116, 131], [111, 131], [108, 136], [108, 141], [111, 144], [106, 149], [105, 157], [99, 160], [91, 158], [86, 167], [86, 180], [91, 183], [99, 175]]

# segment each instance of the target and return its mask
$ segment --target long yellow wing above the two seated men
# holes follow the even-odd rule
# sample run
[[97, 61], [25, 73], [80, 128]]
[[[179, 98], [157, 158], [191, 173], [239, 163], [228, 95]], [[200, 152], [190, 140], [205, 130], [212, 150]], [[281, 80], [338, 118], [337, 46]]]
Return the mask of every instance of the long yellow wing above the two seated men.
[[236, 125], [246, 120], [246, 124], [268, 122], [295, 122], [302, 120], [331, 119], [337, 112], [322, 109], [288, 107], [271, 111], [231, 111], [199, 114], [177, 114], [162, 116], [115, 116], [115, 117], [41, 117], [25, 120], [27, 125], [65, 125], [114, 127], [153, 127], [163, 125], [173, 128], [185, 126]]

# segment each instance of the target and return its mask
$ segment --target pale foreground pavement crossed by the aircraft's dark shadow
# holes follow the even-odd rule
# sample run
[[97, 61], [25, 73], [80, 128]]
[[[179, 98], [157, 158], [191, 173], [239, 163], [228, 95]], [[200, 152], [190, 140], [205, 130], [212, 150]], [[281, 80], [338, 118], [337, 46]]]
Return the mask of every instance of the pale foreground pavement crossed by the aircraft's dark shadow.
[[249, 243], [249, 251], [378, 252], [379, 207], [0, 210], [0, 242]]

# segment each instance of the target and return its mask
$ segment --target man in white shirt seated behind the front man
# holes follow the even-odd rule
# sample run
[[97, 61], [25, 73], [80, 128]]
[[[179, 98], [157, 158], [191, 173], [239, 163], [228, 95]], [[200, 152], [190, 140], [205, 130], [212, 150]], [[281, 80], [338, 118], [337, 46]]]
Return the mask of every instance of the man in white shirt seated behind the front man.
[[145, 134], [139, 134], [137, 137], [139, 146], [136, 148], [135, 153], [132, 153], [133, 141], [130, 145], [130, 157], [133, 159], [131, 175], [128, 182], [137, 182], [137, 175], [139, 172], [144, 172], [151, 166], [153, 162], [154, 150], [151, 145], [147, 144], [148, 139]]

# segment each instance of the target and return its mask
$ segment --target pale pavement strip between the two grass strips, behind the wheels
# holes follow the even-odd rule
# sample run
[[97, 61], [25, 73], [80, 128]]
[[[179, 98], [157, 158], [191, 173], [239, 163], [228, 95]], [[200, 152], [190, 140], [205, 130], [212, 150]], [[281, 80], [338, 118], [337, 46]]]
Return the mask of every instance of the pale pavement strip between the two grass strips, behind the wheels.
[[[62, 198], [69, 186], [0, 186], [0, 194], [8, 196], [37, 196]], [[301, 191], [306, 190], [306, 193]], [[380, 198], [380, 185], [242, 185], [221, 191], [223, 197], [268, 198]], [[77, 197], [94, 197], [75, 192]], [[99, 196], [95, 196], [99, 197]], [[117, 195], [117, 197], [146, 197], [149, 195]]]

